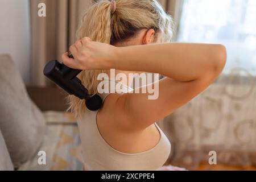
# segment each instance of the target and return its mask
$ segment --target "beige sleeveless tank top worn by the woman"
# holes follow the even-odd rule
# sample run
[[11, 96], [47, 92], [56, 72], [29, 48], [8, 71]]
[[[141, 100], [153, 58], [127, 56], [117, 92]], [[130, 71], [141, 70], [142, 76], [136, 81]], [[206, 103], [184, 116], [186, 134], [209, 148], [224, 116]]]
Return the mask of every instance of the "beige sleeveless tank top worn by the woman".
[[[108, 80], [112, 81], [112, 80]], [[126, 85], [123, 85], [124, 87]], [[127, 86], [126, 86], [127, 87]], [[127, 87], [127, 89], [132, 90]], [[109, 94], [101, 94], [102, 100]], [[115, 150], [102, 138], [96, 122], [97, 111], [86, 111], [78, 120], [82, 142], [82, 158], [89, 171], [153, 171], [163, 166], [171, 151], [171, 144], [163, 131], [155, 147], [137, 154]]]

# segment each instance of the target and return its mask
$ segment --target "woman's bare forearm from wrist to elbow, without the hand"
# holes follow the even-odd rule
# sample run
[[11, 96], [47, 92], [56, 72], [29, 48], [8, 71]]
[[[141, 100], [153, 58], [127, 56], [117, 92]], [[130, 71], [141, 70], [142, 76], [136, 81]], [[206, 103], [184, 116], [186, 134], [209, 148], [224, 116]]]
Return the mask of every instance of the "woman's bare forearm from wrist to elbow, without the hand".
[[176, 81], [216, 76], [225, 65], [225, 47], [219, 44], [168, 43], [118, 47], [111, 65], [125, 71], [160, 73]]

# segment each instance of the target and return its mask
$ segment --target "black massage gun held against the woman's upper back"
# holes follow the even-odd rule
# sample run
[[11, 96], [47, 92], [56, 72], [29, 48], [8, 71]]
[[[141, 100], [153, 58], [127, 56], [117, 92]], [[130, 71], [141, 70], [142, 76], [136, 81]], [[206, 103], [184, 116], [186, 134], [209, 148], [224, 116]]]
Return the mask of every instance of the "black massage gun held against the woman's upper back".
[[[72, 55], [69, 55], [69, 57], [74, 58]], [[81, 70], [69, 68], [57, 60], [49, 61], [46, 67], [44, 67], [44, 75], [60, 86], [60, 88], [81, 100], [86, 100], [85, 105], [89, 110], [99, 110], [102, 105], [101, 97], [89, 95], [81, 80], [76, 77], [79, 73], [81, 73]]]

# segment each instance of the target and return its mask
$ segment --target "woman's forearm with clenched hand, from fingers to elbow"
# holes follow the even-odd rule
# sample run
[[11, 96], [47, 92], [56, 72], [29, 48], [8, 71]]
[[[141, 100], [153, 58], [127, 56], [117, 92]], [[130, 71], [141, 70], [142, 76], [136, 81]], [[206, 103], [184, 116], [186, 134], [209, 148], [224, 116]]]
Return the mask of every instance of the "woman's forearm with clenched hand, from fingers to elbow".
[[63, 55], [64, 64], [76, 69], [110, 69], [160, 73], [177, 81], [196, 80], [220, 71], [226, 50], [220, 44], [166, 43], [114, 47], [83, 38], [71, 46], [75, 57]]

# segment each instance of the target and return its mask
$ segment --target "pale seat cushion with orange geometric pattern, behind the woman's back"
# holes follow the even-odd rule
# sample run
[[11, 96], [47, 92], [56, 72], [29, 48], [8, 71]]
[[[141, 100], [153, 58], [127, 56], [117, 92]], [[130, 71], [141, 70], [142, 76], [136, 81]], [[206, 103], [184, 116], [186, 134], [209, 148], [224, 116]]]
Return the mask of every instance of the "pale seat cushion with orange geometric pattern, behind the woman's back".
[[40, 151], [46, 154], [46, 164], [39, 165], [39, 156], [20, 166], [19, 170], [81, 171], [84, 167], [81, 155], [81, 140], [76, 119], [71, 113], [44, 112], [47, 130]]

